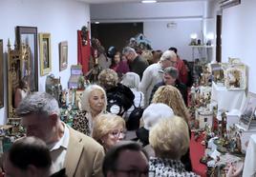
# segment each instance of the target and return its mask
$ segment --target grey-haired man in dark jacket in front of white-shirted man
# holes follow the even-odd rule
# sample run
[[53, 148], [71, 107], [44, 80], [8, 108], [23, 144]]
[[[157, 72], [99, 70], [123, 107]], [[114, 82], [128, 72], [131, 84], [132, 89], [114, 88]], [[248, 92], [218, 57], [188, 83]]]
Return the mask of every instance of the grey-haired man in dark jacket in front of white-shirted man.
[[184, 103], [187, 106], [187, 87], [181, 83], [179, 78], [179, 70], [175, 69], [174, 67], [168, 67], [164, 69], [163, 71], [163, 81], [155, 85], [155, 87], [152, 89], [151, 96], [150, 96], [150, 102], [153, 99], [153, 96], [155, 92], [161, 87], [166, 85], [172, 85], [175, 88], [179, 89], [181, 92], [181, 95], [183, 97]]

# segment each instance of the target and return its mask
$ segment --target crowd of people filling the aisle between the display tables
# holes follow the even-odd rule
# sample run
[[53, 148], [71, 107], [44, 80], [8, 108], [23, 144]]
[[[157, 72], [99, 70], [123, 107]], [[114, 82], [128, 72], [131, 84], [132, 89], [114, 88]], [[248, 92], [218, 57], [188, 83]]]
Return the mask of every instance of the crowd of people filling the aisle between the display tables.
[[[113, 53], [110, 69], [102, 67], [84, 90], [72, 127], [50, 94], [22, 99], [16, 114], [27, 137], [7, 153], [6, 175], [199, 176], [189, 155], [188, 70], [175, 48], [151, 54], [144, 59], [131, 47]], [[141, 117], [131, 116], [136, 108], [143, 108]], [[127, 130], [128, 123], [134, 125]]]

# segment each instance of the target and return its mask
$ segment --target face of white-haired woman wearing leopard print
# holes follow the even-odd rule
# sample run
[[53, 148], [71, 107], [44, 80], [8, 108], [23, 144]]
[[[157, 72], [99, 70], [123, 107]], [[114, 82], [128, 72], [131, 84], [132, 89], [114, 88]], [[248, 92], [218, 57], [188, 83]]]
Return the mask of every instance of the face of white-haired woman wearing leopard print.
[[92, 112], [99, 114], [105, 107], [105, 95], [100, 89], [93, 90], [89, 96], [89, 105]]

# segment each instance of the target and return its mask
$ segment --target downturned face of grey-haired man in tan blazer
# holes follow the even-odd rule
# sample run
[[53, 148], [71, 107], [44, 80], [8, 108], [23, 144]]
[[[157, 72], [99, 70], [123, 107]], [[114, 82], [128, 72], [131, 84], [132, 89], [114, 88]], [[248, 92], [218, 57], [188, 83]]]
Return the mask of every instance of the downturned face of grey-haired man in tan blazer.
[[31, 114], [22, 117], [22, 126], [26, 129], [27, 136], [35, 136], [46, 144], [53, 143], [53, 119], [43, 115]]

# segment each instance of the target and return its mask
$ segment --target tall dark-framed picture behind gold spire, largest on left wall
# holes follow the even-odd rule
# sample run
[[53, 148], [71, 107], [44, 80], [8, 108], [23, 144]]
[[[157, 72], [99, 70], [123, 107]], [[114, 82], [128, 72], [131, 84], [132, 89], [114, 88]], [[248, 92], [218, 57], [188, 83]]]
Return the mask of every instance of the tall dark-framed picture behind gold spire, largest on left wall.
[[[21, 78], [27, 78], [31, 91], [38, 90], [38, 52], [37, 52], [37, 28], [36, 27], [16, 27], [16, 41], [18, 47], [22, 44], [30, 49], [29, 65], [24, 65], [20, 70]], [[27, 69], [25, 69], [25, 67]]]

